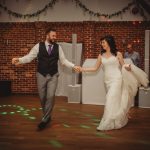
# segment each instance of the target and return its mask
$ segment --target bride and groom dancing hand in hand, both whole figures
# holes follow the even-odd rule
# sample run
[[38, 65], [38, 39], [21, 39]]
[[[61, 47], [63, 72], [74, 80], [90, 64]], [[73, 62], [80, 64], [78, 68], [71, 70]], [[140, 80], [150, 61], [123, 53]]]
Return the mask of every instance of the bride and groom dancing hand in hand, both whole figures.
[[56, 30], [48, 29], [45, 42], [36, 44], [24, 57], [12, 59], [12, 64], [19, 65], [38, 58], [37, 86], [43, 109], [43, 117], [38, 124], [38, 129], [44, 129], [51, 121], [59, 76], [58, 60], [76, 72], [94, 72], [102, 66], [107, 94], [104, 114], [97, 130], [112, 130], [125, 126], [138, 86], [142, 84], [146, 87], [148, 85], [145, 72], [133, 64], [124, 63], [121, 52], [116, 49], [113, 36], [105, 36], [100, 40], [102, 51], [95, 66], [91, 68], [82, 68], [69, 62], [65, 58], [61, 46], [55, 40]]

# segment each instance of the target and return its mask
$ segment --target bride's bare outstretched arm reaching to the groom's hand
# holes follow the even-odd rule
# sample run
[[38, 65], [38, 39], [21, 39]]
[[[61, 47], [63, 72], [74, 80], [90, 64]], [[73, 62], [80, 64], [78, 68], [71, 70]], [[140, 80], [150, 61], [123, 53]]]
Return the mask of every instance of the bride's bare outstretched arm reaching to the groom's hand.
[[90, 68], [82, 68], [82, 72], [95, 72], [99, 69], [99, 67], [101, 66], [102, 61], [101, 61], [101, 55], [99, 54], [96, 64], [94, 67], [90, 67]]

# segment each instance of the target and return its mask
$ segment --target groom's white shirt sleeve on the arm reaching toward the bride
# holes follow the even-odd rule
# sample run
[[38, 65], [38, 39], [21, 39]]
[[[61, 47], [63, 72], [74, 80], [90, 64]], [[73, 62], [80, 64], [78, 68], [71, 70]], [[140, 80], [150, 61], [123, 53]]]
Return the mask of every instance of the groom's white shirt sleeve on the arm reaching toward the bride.
[[71, 63], [65, 58], [64, 52], [60, 45], [59, 45], [59, 60], [62, 65], [65, 65], [68, 68], [73, 68], [75, 66], [73, 63]]

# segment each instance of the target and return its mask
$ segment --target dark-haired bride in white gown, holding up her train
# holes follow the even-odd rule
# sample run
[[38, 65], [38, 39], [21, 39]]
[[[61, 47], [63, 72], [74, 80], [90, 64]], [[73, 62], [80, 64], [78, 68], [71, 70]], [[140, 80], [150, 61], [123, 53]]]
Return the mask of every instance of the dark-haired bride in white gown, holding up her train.
[[148, 79], [141, 69], [124, 63], [113, 36], [103, 37], [101, 45], [103, 50], [95, 66], [81, 68], [81, 71], [94, 72], [102, 66], [107, 94], [104, 114], [97, 130], [120, 129], [128, 122], [128, 112], [138, 86], [142, 84], [146, 87]]

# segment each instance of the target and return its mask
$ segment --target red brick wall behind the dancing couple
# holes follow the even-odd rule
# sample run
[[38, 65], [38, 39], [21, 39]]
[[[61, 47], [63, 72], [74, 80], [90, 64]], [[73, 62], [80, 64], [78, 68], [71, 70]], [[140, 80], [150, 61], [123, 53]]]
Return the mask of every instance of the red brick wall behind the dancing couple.
[[48, 27], [57, 30], [59, 42], [71, 42], [72, 33], [77, 33], [78, 42], [83, 43], [83, 59], [98, 56], [99, 39], [106, 34], [114, 35], [121, 52], [125, 50], [123, 41], [131, 42], [144, 68], [144, 33], [150, 29], [150, 22], [0, 23], [0, 80], [11, 80], [13, 93], [37, 93], [36, 60], [15, 67], [11, 59], [27, 54], [34, 44], [44, 41]]

